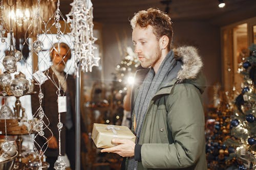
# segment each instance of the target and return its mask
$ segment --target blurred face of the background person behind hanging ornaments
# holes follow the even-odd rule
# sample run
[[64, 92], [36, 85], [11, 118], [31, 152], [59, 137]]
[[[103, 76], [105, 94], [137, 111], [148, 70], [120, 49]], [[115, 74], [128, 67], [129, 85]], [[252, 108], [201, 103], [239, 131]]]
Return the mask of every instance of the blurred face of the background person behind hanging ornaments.
[[63, 71], [66, 67], [66, 63], [69, 60], [67, 55], [67, 50], [65, 48], [60, 47], [60, 50], [58, 50], [58, 47], [56, 48], [57, 51], [53, 50], [52, 55], [52, 63], [54, 68], [57, 71]]

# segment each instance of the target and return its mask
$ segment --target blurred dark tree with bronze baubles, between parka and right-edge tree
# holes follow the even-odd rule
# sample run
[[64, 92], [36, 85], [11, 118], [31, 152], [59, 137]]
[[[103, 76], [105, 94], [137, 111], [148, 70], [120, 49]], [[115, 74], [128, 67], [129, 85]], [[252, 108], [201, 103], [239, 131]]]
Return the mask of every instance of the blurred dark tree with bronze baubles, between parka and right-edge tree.
[[206, 159], [210, 170], [224, 170], [232, 165], [228, 160], [229, 151], [225, 141], [230, 138], [230, 116], [233, 114], [232, 96], [221, 90], [221, 85], [214, 86], [214, 101], [208, 107], [205, 127]]

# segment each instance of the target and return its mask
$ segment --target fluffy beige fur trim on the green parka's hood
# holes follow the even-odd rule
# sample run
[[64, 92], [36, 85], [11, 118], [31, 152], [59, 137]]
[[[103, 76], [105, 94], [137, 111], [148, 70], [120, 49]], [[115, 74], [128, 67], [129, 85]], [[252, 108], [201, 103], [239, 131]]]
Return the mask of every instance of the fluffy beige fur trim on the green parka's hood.
[[181, 46], [174, 49], [175, 59], [181, 60], [183, 65], [178, 72], [177, 79], [195, 79], [203, 67], [203, 62], [194, 46]]

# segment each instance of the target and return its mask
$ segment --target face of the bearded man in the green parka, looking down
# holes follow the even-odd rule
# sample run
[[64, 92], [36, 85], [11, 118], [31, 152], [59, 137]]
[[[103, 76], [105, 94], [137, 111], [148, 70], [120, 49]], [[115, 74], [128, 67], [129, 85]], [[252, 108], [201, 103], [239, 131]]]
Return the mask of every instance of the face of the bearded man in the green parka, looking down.
[[136, 26], [133, 29], [134, 52], [144, 68], [154, 67], [161, 57], [159, 40], [157, 40], [153, 33], [153, 29], [152, 26], [147, 26], [146, 28]]

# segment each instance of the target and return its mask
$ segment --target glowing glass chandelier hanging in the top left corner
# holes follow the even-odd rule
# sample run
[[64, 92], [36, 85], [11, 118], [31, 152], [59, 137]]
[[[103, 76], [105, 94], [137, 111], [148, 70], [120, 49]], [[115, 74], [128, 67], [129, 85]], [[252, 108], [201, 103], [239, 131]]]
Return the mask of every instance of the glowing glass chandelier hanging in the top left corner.
[[[35, 29], [29, 27], [33, 18], [36, 17], [38, 11], [38, 3], [40, 5], [40, 19], [47, 22], [56, 10], [56, 0], [7, 0], [3, 1], [3, 19], [6, 23], [6, 29], [10, 30], [10, 24], [14, 37], [16, 39], [24, 39], [24, 33], [28, 29]], [[33, 26], [37, 26], [36, 23]], [[38, 27], [38, 26], [37, 26]], [[40, 26], [39, 26], [40, 27]], [[35, 36], [35, 35], [34, 35]]]

